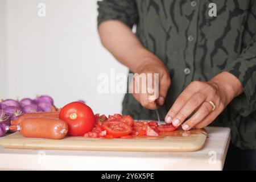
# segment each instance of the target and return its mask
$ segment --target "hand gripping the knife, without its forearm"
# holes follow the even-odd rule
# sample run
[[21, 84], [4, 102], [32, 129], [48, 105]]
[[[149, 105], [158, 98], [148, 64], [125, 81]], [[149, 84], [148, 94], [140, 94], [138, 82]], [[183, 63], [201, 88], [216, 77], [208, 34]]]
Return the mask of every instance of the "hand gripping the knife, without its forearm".
[[[145, 108], [155, 109], [155, 106], [163, 105], [168, 89], [171, 85], [171, 78], [166, 66], [157, 57], [147, 55], [142, 58], [135, 66], [134, 82], [129, 85], [130, 90], [139, 88], [139, 93], [133, 93], [134, 98]], [[152, 81], [148, 80], [148, 73], [152, 74]], [[154, 73], [158, 73], [159, 79], [154, 77]], [[139, 77], [146, 77], [146, 82], [139, 80]], [[154, 81], [156, 78], [156, 82]], [[149, 85], [151, 83], [151, 85]], [[156, 84], [157, 83], [157, 84]], [[142, 88], [146, 87], [146, 93], [142, 92]], [[156, 105], [155, 105], [156, 103]]]

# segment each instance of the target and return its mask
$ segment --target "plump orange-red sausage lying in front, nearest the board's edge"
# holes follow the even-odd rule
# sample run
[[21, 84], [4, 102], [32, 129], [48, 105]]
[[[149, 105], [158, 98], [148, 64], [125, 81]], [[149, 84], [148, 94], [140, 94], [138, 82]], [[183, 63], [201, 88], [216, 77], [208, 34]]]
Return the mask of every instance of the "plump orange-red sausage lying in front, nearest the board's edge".
[[67, 122], [56, 118], [24, 118], [16, 126], [23, 137], [62, 139], [68, 133]]

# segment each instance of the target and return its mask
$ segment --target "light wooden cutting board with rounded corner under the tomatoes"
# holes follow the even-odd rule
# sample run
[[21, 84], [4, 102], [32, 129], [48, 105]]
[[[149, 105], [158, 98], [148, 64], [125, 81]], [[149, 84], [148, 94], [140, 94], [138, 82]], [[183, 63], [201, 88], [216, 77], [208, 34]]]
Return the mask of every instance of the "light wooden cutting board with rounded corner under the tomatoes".
[[162, 138], [98, 139], [65, 137], [61, 140], [25, 138], [19, 132], [0, 139], [6, 148], [98, 151], [180, 151], [200, 150], [207, 138], [206, 130], [174, 131]]

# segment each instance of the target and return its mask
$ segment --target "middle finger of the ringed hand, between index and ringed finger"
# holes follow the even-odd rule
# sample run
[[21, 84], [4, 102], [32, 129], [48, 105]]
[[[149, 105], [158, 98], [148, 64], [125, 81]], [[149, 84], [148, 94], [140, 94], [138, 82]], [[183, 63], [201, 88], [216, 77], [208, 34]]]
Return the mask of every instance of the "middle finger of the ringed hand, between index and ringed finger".
[[172, 125], [178, 127], [183, 123], [183, 121], [189, 117], [199, 107], [207, 96], [203, 93], [197, 92], [193, 94], [191, 98], [186, 102], [186, 104], [180, 109], [179, 113], [177, 113], [174, 117], [174, 121], [172, 121]]

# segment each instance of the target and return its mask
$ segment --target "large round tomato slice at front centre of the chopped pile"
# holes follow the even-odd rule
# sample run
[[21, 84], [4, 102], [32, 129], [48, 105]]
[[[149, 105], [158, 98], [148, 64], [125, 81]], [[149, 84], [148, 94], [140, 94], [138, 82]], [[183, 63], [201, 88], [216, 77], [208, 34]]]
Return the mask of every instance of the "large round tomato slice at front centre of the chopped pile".
[[131, 133], [131, 127], [119, 121], [104, 122], [102, 128], [106, 130], [107, 135], [113, 135], [114, 138], [126, 136]]

